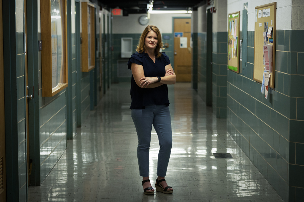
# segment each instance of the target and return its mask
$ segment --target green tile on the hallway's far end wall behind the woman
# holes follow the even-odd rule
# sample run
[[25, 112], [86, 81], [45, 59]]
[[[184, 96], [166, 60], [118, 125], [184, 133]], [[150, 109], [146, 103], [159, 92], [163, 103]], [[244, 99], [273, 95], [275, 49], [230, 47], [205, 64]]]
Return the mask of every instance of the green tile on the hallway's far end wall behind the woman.
[[[120, 57], [120, 46], [121, 46], [121, 38], [122, 37], [131, 37], [133, 38], [133, 46], [132, 46], [132, 50], [133, 53], [136, 52], [136, 47], [138, 44], [138, 41], [140, 39], [140, 35], [141, 34], [113, 34], [113, 47], [114, 50], [112, 51], [112, 75], [113, 75], [113, 82], [114, 83], [119, 83], [119, 82], [130, 82], [131, 78], [130, 77], [125, 77], [125, 78], [119, 78], [117, 77], [117, 60], [128, 60], [128, 58], [121, 58]], [[170, 36], [170, 39], [166, 40], [163, 39], [164, 36]], [[166, 48], [165, 50], [163, 50], [166, 55], [168, 55], [170, 61], [171, 61], [171, 65], [174, 68], [174, 55], [173, 55], [173, 45], [174, 45], [174, 39], [173, 39], [173, 34], [172, 33], [163, 33], [162, 34], [162, 39], [163, 39], [163, 44], [168, 43], [169, 44], [169, 48]], [[127, 68], [127, 65], [126, 65]], [[130, 72], [131, 74], [131, 72]]]

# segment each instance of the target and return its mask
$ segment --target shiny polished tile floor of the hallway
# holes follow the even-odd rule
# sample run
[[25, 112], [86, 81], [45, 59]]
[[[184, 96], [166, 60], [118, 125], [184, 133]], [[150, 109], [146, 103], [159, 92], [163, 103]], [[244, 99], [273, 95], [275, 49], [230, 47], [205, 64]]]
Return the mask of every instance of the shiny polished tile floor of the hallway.
[[[29, 201], [282, 201], [226, 133], [226, 119], [216, 119], [189, 83], [169, 86], [173, 147], [166, 180], [174, 192], [144, 195], [129, 89], [127, 83], [112, 85], [41, 186], [29, 187]], [[153, 129], [153, 187], [158, 149]], [[216, 159], [212, 153], [233, 158]]]

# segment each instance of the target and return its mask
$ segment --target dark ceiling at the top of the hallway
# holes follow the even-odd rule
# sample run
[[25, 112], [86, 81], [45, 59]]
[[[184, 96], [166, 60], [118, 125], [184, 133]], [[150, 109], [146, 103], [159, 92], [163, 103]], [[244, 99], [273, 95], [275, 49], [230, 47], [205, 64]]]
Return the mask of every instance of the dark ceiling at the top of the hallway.
[[[103, 8], [121, 8], [124, 14], [147, 13], [147, 4], [149, 0], [91, 0], [98, 2]], [[196, 7], [203, 0], [175, 0], [175, 1], [157, 1], [154, 0], [153, 10], [188, 10], [189, 7]]]

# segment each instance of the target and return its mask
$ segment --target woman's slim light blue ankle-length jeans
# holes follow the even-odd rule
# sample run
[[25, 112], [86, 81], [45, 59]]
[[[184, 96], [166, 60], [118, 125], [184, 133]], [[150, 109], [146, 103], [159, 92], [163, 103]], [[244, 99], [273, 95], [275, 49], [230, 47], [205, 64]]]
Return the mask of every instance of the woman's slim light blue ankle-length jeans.
[[135, 124], [138, 145], [137, 159], [139, 174], [149, 176], [149, 150], [152, 124], [158, 136], [159, 152], [157, 160], [157, 176], [166, 176], [172, 148], [171, 115], [169, 107], [151, 104], [145, 109], [132, 109], [132, 119]]

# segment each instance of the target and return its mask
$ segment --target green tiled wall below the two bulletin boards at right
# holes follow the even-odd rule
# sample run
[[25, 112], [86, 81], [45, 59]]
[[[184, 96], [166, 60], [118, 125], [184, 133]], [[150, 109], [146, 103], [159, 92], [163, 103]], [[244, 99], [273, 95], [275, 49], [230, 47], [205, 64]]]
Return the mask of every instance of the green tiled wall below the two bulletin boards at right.
[[[254, 31], [247, 77], [227, 71], [227, 131], [284, 201], [304, 193], [304, 30], [276, 32], [275, 89], [268, 100], [253, 81]], [[214, 91], [216, 92], [216, 91]]]

